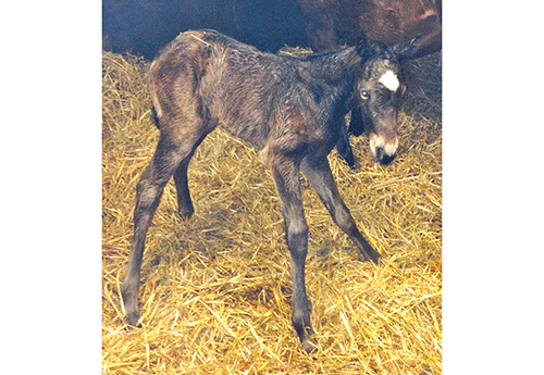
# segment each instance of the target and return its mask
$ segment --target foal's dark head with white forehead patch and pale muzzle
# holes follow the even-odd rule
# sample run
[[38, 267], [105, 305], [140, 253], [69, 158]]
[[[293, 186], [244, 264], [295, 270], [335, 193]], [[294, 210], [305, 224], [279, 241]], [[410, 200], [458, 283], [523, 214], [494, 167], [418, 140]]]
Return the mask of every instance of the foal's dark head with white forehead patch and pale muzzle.
[[362, 110], [374, 162], [387, 165], [397, 155], [398, 121], [406, 85], [400, 74], [400, 61], [409, 52], [413, 40], [388, 48], [381, 42], [358, 46], [363, 66], [357, 82], [356, 96]]

